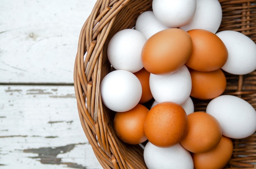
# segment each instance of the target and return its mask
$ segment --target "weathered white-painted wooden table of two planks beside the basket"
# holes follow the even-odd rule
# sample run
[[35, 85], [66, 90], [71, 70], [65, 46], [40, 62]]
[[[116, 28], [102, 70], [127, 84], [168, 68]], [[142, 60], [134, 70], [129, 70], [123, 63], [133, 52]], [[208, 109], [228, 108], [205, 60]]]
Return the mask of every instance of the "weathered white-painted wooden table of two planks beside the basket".
[[77, 42], [96, 0], [1, 0], [0, 169], [101, 169], [79, 121]]

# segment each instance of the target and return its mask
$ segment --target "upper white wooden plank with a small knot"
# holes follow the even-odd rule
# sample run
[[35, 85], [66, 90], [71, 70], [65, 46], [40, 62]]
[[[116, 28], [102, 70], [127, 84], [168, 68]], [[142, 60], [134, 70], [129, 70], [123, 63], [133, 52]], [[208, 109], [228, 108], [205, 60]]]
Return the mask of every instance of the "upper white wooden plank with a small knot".
[[96, 0], [1, 0], [0, 83], [73, 83], [83, 23]]

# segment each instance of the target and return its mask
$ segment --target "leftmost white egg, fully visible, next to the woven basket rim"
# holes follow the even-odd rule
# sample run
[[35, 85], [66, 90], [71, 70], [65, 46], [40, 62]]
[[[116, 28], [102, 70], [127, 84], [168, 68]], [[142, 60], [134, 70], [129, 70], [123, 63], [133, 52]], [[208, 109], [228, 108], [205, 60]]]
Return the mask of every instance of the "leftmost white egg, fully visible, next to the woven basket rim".
[[103, 104], [112, 111], [124, 112], [134, 108], [141, 98], [139, 79], [126, 70], [108, 73], [100, 85]]

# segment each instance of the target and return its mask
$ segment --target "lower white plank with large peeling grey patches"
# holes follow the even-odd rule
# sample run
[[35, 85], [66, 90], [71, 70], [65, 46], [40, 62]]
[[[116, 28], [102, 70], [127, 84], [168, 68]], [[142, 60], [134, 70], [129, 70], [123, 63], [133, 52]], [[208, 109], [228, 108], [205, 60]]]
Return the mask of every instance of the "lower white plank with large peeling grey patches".
[[73, 86], [0, 85], [1, 169], [100, 169]]

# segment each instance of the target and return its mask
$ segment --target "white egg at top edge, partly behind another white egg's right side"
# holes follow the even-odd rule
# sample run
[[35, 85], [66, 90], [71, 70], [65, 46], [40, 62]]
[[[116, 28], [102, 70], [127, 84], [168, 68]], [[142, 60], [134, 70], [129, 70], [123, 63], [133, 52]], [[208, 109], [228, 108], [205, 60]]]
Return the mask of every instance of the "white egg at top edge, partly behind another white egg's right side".
[[192, 20], [180, 29], [205, 29], [216, 33], [222, 20], [222, 8], [218, 0], [196, 0], [196, 11]]

